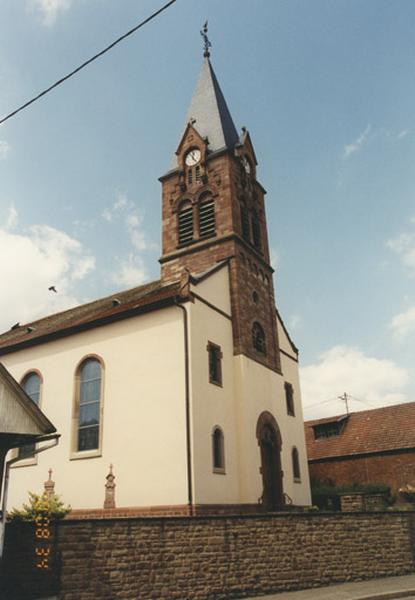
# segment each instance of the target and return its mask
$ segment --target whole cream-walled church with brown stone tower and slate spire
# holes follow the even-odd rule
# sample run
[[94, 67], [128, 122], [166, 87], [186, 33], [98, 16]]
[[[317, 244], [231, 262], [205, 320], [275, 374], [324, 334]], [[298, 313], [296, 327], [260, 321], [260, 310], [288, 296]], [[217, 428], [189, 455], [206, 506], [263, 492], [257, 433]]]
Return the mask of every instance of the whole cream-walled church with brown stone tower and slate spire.
[[0, 336], [0, 361], [61, 435], [47, 453], [14, 451], [9, 509], [41, 492], [49, 469], [75, 511], [103, 510], [113, 475], [108, 510], [310, 504], [298, 350], [275, 305], [265, 190], [205, 41], [160, 177], [160, 279]]

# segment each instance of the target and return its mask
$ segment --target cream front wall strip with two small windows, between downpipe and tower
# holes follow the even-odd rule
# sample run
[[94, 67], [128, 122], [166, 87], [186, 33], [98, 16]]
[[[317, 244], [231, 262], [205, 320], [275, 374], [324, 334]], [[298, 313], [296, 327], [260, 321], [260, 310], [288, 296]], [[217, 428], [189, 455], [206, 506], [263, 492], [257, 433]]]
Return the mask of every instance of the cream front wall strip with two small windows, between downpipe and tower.
[[[206, 290], [208, 281], [211, 281], [214, 293], [221, 287], [221, 296], [229, 297], [227, 268], [203, 282], [203, 296], [211, 301], [214, 293]], [[196, 291], [202, 295], [199, 287]], [[234, 503], [239, 498], [239, 483], [232, 322], [199, 300], [187, 306], [191, 348], [194, 501], [196, 504]], [[222, 301], [222, 307], [226, 308], [226, 302]], [[220, 346], [223, 354], [222, 386], [209, 382], [208, 342]], [[224, 434], [225, 473], [213, 471], [212, 433], [215, 426], [219, 426]]]

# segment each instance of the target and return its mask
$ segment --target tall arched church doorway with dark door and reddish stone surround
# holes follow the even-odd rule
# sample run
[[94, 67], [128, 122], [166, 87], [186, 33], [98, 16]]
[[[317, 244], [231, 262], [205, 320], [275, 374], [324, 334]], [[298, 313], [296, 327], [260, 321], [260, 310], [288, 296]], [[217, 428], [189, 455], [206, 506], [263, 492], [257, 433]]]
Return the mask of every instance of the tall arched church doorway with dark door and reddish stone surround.
[[261, 453], [262, 505], [266, 509], [283, 506], [281, 470], [281, 433], [272, 414], [263, 412], [257, 423], [256, 431]]

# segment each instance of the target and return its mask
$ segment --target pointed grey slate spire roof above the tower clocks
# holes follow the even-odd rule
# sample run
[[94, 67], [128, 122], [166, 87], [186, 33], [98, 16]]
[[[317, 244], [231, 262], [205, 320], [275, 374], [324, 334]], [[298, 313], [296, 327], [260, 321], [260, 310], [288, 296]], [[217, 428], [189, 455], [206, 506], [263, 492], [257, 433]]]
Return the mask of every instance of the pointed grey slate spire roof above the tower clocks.
[[187, 114], [187, 122], [202, 137], [208, 138], [210, 152], [232, 148], [239, 140], [236, 127], [220, 89], [209, 57], [205, 56], [202, 69]]

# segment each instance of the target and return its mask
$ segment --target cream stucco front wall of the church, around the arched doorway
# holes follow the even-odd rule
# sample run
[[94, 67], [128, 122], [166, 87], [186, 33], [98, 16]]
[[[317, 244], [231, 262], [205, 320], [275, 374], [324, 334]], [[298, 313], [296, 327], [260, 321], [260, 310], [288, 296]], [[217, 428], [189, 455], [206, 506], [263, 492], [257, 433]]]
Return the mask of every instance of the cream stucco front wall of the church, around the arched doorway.
[[[223, 268], [194, 291], [230, 314], [228, 269]], [[227, 310], [226, 310], [227, 309]], [[192, 454], [195, 502], [257, 503], [262, 495], [261, 457], [256, 427], [263, 411], [276, 419], [282, 436], [283, 489], [296, 505], [310, 504], [307, 458], [298, 380], [298, 363], [279, 324], [282, 375], [242, 355], [233, 355], [232, 324], [226, 316], [195, 300], [188, 305], [191, 340]], [[223, 386], [209, 382], [206, 346], [223, 353]], [[284, 383], [294, 389], [295, 416], [287, 414]], [[225, 436], [225, 474], [213, 472], [212, 429]], [[294, 482], [292, 448], [299, 452], [301, 481]]]

